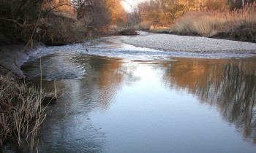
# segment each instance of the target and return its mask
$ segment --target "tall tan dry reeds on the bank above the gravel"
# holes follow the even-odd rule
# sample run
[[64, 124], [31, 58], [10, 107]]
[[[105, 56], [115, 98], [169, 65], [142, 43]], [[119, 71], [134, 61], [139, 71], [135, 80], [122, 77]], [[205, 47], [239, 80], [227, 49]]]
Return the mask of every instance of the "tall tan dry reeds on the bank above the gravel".
[[256, 42], [255, 28], [256, 3], [253, 3], [234, 11], [190, 12], [176, 20], [172, 30], [174, 34], [226, 36]]

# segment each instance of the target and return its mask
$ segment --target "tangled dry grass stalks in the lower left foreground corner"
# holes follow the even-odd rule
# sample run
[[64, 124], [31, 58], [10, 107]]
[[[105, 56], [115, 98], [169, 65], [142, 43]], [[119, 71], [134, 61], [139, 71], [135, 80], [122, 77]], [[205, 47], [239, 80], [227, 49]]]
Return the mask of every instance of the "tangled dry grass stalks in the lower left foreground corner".
[[19, 145], [24, 139], [33, 149], [38, 127], [46, 117], [43, 98], [42, 90], [0, 76], [0, 146], [15, 136]]

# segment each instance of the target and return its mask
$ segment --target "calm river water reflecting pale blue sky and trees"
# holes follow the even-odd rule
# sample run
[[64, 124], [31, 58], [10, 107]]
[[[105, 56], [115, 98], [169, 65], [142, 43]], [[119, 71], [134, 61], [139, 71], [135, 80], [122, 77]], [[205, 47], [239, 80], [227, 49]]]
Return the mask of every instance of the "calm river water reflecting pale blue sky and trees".
[[[39, 152], [256, 152], [256, 58], [162, 58], [97, 41], [93, 53], [44, 49], [42, 85], [56, 80], [60, 96]], [[137, 53], [118, 55], [127, 48]], [[37, 84], [39, 59], [23, 71]]]

